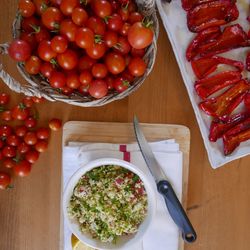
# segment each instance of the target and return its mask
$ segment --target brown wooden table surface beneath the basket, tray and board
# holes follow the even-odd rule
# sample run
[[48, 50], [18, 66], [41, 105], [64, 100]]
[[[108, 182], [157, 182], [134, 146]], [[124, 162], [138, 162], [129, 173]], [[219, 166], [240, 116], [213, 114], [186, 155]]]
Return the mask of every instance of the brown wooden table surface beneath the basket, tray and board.
[[[10, 26], [16, 0], [1, 0], [0, 43], [11, 40]], [[15, 63], [1, 61], [21, 80]], [[12, 103], [22, 95], [3, 82], [1, 92], [11, 94]], [[250, 246], [250, 157], [213, 170], [184, 87], [180, 71], [160, 25], [158, 56], [153, 72], [128, 98], [99, 108], [80, 108], [45, 102], [39, 107], [40, 125], [52, 117], [69, 120], [183, 124], [191, 130], [188, 215], [198, 233], [186, 250], [248, 250]], [[49, 149], [26, 178], [15, 178], [14, 189], [0, 192], [0, 249], [56, 250], [59, 248], [61, 132], [53, 133]], [[0, 166], [0, 170], [3, 167]]]

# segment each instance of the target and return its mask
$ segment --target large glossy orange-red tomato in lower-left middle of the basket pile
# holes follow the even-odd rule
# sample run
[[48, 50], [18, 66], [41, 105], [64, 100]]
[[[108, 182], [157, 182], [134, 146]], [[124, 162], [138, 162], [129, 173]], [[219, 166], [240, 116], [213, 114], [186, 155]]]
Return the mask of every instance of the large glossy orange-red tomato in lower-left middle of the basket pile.
[[68, 49], [64, 53], [57, 55], [57, 62], [63, 69], [74, 69], [78, 63], [77, 53], [72, 49]]

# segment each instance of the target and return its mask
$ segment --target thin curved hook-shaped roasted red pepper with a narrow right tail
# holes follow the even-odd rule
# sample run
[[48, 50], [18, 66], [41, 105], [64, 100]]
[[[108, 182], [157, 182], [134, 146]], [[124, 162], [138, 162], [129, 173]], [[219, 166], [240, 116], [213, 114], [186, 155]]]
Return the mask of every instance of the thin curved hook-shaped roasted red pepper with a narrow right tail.
[[191, 62], [193, 71], [199, 79], [204, 78], [214, 72], [219, 64], [233, 66], [237, 68], [239, 72], [244, 70], [244, 64], [242, 62], [220, 56], [202, 57]]

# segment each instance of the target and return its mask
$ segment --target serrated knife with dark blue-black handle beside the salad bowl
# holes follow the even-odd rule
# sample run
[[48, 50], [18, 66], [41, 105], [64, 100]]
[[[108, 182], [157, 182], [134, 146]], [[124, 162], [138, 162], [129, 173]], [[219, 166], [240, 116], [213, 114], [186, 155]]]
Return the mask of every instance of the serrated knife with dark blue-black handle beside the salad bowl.
[[164, 197], [170, 216], [181, 230], [183, 240], [188, 243], [194, 242], [197, 238], [196, 232], [189, 221], [180, 201], [178, 200], [174, 189], [155, 159], [155, 156], [142, 133], [136, 116], [134, 117], [134, 131], [143, 158], [155, 179], [158, 192]]

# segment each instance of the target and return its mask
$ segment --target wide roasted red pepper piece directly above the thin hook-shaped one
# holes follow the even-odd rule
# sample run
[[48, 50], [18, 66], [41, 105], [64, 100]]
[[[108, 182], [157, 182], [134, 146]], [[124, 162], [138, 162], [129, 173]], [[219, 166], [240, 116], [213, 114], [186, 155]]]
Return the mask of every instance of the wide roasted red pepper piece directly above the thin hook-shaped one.
[[227, 26], [216, 41], [199, 46], [198, 53], [202, 56], [212, 56], [231, 49], [250, 46], [246, 32], [239, 24]]

